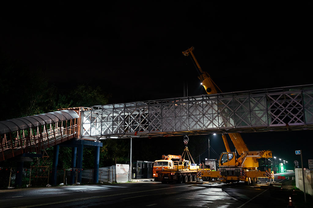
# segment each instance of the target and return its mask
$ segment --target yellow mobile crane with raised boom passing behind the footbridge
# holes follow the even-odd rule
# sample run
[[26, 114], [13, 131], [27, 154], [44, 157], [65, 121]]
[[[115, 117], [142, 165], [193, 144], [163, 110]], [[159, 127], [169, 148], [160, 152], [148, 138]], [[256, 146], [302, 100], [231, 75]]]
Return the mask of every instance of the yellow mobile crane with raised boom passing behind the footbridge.
[[[194, 62], [198, 67], [199, 79], [208, 94], [216, 94], [218, 86], [213, 82], [211, 76], [208, 72], [204, 72], [196, 57], [193, 54], [194, 47], [183, 51], [184, 56], [189, 56], [191, 54]], [[218, 90], [222, 92], [219, 88]], [[223, 141], [227, 152], [222, 152], [219, 157], [219, 172], [199, 170], [201, 171], [202, 177], [219, 177], [224, 183], [229, 182], [239, 182], [244, 181], [246, 184], [254, 184], [257, 182], [259, 177], [270, 177], [273, 178], [274, 175], [267, 171], [258, 171], [259, 162], [258, 158], [270, 158], [272, 157], [272, 151], [249, 151], [247, 145], [244, 143], [241, 135], [239, 133], [229, 133], [228, 134], [231, 141], [233, 142], [237, 152], [232, 152], [229, 148], [226, 136], [223, 134]], [[208, 158], [210, 159], [210, 158]]]

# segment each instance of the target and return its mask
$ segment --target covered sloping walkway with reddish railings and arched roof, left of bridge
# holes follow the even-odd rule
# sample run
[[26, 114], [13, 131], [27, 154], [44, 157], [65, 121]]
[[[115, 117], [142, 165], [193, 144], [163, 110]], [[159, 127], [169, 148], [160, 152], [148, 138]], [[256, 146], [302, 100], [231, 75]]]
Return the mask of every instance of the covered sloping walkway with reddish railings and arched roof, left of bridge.
[[0, 161], [76, 137], [78, 119], [75, 111], [62, 110], [0, 121]]

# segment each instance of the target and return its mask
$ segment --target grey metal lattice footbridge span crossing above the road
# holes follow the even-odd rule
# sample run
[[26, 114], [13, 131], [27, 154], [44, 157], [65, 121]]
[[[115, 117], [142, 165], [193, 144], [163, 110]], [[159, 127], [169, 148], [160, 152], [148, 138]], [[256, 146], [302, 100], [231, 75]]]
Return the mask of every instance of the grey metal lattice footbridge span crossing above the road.
[[313, 129], [313, 85], [93, 106], [81, 137], [121, 138]]

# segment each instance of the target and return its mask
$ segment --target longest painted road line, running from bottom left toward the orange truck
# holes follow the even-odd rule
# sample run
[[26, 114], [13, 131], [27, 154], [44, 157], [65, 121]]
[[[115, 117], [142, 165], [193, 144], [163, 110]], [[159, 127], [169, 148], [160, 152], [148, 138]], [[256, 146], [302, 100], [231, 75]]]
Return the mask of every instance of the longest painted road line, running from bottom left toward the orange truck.
[[[188, 184], [188, 185], [185, 185], [185, 186], [193, 186], [193, 185]], [[52, 204], [61, 204], [61, 203], [67, 203], [67, 202], [73, 202], [73, 201], [83, 201], [83, 200], [89, 200], [89, 199], [105, 198], [105, 197], [110, 197], [110, 196], [121, 196], [121, 195], [126, 195], [126, 194], [136, 194], [136, 193], [147, 192], [147, 191], [158, 191], [158, 190], [164, 190], [164, 189], [181, 188], [181, 187], [185, 187], [185, 186], [172, 186], [172, 187], [168, 187], [168, 188], [151, 189], [151, 190], [145, 190], [145, 191], [133, 191], [133, 192], [128, 192], [128, 193], [110, 194], [110, 195], [105, 195], [105, 196], [91, 196], [91, 197], [71, 199], [71, 200], [64, 200], [64, 201], [56, 201], [56, 202], [44, 203], [44, 204], [35, 204], [35, 205], [28, 205], [28, 206], [16, 206], [16, 207], [13, 207], [13, 208], [27, 208], [27, 207], [34, 207], [34, 206], [45, 206], [45, 205], [52, 205]]]

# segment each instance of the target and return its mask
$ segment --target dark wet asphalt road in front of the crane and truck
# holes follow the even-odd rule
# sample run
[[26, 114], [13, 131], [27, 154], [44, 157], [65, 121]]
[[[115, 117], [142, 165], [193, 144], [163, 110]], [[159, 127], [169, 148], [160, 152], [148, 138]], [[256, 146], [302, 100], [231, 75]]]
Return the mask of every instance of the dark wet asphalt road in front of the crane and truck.
[[0, 191], [0, 207], [286, 207], [290, 193], [233, 184], [136, 182]]

